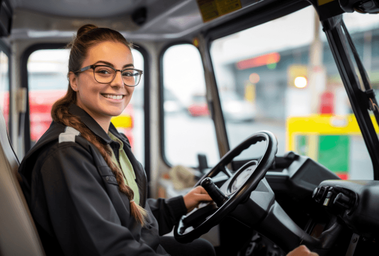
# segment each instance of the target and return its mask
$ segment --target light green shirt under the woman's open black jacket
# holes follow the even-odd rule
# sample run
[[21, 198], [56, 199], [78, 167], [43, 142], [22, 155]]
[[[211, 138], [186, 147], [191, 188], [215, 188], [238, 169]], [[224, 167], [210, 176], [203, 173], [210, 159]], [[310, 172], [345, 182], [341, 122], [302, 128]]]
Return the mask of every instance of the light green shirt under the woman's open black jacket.
[[[112, 161], [121, 168], [124, 174], [124, 182], [126, 185], [128, 185], [134, 192], [134, 202], [136, 204], [139, 204], [139, 192], [138, 192], [138, 185], [135, 182], [135, 173], [132, 164], [130, 163], [130, 160], [128, 156], [126, 155], [124, 151], [124, 144], [121, 140], [119, 140], [116, 136], [108, 132], [109, 137], [114, 140], [115, 142], [118, 142], [120, 144], [119, 147], [119, 152], [118, 152], [118, 157], [119, 157], [119, 164], [116, 159], [116, 156], [114, 155], [113, 151], [112, 152]], [[109, 146], [110, 147], [110, 146]], [[120, 166], [121, 164], [121, 166]]]

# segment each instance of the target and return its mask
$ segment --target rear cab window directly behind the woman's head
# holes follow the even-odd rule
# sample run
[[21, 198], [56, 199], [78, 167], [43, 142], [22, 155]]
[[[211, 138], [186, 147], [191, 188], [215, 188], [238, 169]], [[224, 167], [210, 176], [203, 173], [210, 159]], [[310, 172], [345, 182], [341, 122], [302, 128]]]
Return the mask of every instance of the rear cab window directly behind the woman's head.
[[[68, 89], [67, 49], [37, 50], [28, 59], [28, 86], [30, 108], [31, 145], [41, 138], [49, 128], [51, 107], [63, 97]], [[141, 52], [132, 49], [134, 66], [143, 70], [144, 58]], [[130, 140], [136, 158], [144, 163], [144, 76], [135, 87], [132, 99], [124, 112], [112, 118], [112, 123], [119, 132]]]

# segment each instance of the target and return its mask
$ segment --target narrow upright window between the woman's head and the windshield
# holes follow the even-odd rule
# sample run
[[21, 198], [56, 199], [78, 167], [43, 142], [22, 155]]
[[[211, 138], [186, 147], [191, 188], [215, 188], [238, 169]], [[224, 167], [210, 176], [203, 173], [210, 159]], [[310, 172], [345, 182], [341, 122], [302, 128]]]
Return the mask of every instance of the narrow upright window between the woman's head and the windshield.
[[205, 97], [204, 69], [198, 50], [175, 45], [163, 55], [164, 155], [171, 165], [208, 165], [220, 159], [213, 121]]

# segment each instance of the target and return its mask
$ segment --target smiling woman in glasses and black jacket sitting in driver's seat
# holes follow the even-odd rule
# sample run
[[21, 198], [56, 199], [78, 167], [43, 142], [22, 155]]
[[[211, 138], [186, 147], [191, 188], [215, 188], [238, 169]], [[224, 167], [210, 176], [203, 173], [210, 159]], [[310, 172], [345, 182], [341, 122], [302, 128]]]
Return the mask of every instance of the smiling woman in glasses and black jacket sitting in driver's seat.
[[85, 25], [69, 46], [67, 94], [53, 105], [52, 124], [19, 168], [47, 255], [214, 255], [205, 240], [191, 246], [159, 238], [211, 200], [204, 188], [146, 199], [145, 171], [110, 122], [141, 78], [131, 44], [114, 30]]

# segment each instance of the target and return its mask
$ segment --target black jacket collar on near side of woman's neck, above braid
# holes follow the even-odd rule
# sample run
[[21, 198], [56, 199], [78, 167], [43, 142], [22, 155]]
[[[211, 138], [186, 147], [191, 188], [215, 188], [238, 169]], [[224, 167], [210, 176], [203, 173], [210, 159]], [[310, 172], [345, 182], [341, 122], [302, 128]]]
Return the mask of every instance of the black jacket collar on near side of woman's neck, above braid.
[[[102, 138], [105, 143], [109, 144], [112, 142], [112, 139], [108, 136], [108, 134], [104, 131], [102, 126], [100, 126], [95, 119], [93, 119], [87, 112], [85, 112], [83, 109], [79, 108], [79, 106], [71, 103], [68, 107], [68, 112], [70, 114], [77, 116], [81, 121], [98, 137]], [[109, 130], [112, 132], [115, 129], [114, 125], [111, 123]]]

